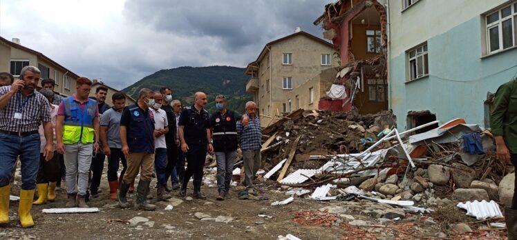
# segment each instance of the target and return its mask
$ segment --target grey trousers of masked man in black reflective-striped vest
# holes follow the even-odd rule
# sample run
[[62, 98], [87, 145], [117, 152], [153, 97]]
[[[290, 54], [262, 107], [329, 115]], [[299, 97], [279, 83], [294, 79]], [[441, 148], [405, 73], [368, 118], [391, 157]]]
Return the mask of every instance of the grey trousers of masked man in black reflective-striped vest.
[[217, 162], [217, 188], [218, 191], [228, 192], [229, 183], [232, 182], [236, 151], [216, 152]]

